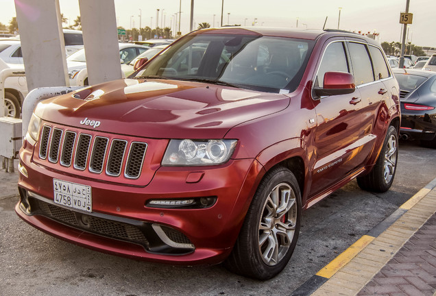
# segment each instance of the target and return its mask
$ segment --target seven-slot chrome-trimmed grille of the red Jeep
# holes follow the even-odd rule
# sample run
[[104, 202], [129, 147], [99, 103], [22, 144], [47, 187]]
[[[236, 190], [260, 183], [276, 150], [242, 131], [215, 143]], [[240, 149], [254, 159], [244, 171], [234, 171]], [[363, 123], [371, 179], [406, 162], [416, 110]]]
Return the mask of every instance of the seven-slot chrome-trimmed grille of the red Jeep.
[[[64, 167], [92, 173], [102, 173], [118, 177], [123, 171], [124, 176], [137, 179], [141, 175], [143, 162], [147, 151], [147, 143], [132, 142], [128, 146], [127, 140], [92, 136], [90, 134], [76, 133], [62, 130], [58, 127], [51, 128], [44, 125], [40, 136], [39, 157], [49, 162], [60, 164]], [[106, 154], [108, 157], [106, 158]], [[106, 170], [105, 170], [106, 168]]]

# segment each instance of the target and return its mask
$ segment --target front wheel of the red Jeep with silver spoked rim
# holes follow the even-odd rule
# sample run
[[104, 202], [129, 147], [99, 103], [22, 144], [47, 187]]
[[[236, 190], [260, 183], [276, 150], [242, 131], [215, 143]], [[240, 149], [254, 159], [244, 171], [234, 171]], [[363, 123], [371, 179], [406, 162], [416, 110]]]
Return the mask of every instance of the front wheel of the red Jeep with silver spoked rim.
[[265, 175], [232, 253], [224, 262], [227, 269], [268, 280], [286, 267], [297, 244], [301, 220], [298, 182], [289, 169], [277, 167]]

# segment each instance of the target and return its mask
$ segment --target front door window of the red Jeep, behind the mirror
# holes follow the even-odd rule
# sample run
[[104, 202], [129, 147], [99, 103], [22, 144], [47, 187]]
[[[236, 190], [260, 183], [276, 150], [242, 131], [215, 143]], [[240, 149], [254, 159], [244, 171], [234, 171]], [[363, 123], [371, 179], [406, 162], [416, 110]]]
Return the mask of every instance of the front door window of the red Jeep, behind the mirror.
[[323, 86], [324, 74], [330, 71], [350, 73], [343, 42], [333, 42], [324, 51], [314, 86]]

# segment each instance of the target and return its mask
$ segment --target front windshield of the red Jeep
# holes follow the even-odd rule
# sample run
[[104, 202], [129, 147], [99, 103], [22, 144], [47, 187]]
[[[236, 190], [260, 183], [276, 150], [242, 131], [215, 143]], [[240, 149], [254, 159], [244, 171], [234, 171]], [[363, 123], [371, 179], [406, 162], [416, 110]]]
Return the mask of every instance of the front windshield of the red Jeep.
[[310, 40], [269, 36], [186, 36], [156, 56], [136, 77], [182, 79], [290, 93], [313, 48]]

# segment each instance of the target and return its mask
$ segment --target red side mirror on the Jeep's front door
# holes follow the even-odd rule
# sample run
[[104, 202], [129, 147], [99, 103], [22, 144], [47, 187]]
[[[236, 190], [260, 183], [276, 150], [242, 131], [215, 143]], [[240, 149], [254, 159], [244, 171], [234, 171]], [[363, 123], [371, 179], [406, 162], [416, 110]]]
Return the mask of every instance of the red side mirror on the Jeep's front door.
[[318, 97], [330, 95], [346, 95], [354, 93], [356, 85], [354, 77], [347, 72], [331, 71], [324, 74], [324, 88], [315, 87], [315, 94]]

